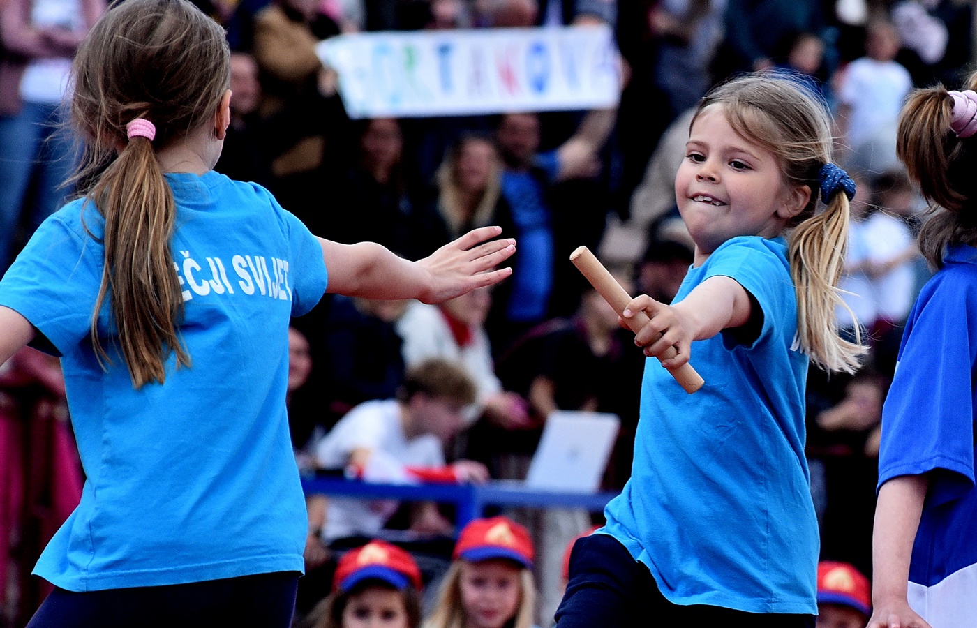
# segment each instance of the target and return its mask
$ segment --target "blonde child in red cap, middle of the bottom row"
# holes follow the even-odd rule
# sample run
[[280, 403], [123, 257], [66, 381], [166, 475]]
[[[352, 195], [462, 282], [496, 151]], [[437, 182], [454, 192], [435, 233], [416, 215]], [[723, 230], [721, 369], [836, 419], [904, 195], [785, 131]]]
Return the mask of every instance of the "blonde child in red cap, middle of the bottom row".
[[530, 533], [505, 517], [462, 528], [424, 628], [534, 628]]

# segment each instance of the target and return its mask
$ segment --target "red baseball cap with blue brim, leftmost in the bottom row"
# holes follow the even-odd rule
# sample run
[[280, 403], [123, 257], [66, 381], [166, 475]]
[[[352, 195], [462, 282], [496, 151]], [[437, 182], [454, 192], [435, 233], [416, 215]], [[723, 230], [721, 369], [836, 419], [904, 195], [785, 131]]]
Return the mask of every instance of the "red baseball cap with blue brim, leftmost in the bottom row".
[[333, 591], [349, 591], [363, 580], [382, 580], [396, 589], [421, 588], [421, 570], [404, 550], [386, 541], [370, 541], [339, 559]]

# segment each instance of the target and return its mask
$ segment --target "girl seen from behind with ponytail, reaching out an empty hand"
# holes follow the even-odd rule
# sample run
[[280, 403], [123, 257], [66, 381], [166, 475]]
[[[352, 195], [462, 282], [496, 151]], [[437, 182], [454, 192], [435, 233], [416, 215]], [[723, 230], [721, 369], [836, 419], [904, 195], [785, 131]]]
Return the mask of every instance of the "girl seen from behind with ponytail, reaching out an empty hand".
[[31, 626], [288, 626], [307, 535], [290, 316], [326, 288], [440, 302], [509, 273], [491, 269], [514, 241], [481, 243], [497, 228], [410, 263], [213, 172], [229, 57], [185, 0], [118, 3], [78, 50], [84, 196], [0, 282], [0, 362], [28, 342], [62, 357], [87, 478], [35, 567], [57, 589]]

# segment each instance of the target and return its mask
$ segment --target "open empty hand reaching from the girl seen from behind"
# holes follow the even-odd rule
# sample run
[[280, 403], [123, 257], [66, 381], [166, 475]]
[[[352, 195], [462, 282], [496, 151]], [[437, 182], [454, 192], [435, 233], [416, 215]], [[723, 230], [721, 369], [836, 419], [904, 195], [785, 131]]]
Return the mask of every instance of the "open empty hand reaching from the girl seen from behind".
[[492, 271], [516, 252], [516, 240], [486, 241], [502, 232], [499, 227], [471, 230], [447, 243], [417, 265], [430, 275], [428, 287], [420, 295], [424, 303], [442, 303], [483, 286], [498, 283], [512, 269]]

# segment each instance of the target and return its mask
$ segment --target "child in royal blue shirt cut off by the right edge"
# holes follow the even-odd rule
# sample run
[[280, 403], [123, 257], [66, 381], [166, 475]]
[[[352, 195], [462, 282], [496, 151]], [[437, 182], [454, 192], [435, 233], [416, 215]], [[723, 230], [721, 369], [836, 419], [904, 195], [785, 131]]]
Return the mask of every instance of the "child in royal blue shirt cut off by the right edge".
[[906, 322], [882, 407], [869, 628], [977, 617], [977, 74], [916, 90], [897, 149], [930, 205], [919, 249], [937, 269]]

